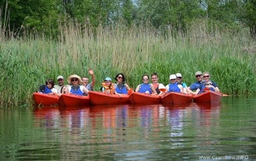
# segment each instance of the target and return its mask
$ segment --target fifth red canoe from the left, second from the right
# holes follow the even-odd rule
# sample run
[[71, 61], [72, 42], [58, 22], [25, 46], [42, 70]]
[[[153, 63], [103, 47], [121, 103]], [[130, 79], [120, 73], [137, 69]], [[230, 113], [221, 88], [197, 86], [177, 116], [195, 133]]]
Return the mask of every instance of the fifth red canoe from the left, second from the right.
[[184, 104], [192, 102], [191, 94], [168, 93], [162, 98], [163, 103]]

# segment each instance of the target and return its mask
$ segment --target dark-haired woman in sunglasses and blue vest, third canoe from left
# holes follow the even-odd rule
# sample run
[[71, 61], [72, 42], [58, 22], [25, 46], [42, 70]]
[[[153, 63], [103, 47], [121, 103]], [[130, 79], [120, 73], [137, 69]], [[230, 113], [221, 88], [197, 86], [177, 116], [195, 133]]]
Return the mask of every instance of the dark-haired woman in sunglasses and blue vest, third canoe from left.
[[119, 73], [115, 77], [116, 83], [114, 83], [114, 88], [116, 89], [116, 94], [128, 94], [128, 91], [131, 90], [131, 88], [128, 86], [128, 84], [125, 83], [125, 75], [122, 73]]

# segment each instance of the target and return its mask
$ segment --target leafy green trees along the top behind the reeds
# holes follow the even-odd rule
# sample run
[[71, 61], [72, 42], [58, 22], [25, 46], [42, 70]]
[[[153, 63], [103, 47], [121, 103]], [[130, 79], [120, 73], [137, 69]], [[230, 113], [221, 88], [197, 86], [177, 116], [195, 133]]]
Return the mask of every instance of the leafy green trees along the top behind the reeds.
[[256, 37], [255, 0], [0, 0], [0, 15], [1, 28], [14, 32], [53, 30], [67, 20], [93, 27], [150, 23], [184, 32], [191, 22], [206, 20], [231, 29], [248, 27]]

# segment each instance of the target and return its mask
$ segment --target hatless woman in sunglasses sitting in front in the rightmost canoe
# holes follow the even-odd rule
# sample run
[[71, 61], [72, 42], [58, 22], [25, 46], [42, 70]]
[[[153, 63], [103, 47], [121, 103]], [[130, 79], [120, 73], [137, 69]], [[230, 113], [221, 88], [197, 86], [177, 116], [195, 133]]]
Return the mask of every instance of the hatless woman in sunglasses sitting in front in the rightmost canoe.
[[191, 92], [191, 94], [199, 94], [209, 90], [220, 93], [220, 89], [218, 85], [215, 82], [210, 81], [209, 72], [203, 72], [203, 79], [204, 79], [204, 82], [198, 87], [198, 89], [196, 89], [195, 92]]

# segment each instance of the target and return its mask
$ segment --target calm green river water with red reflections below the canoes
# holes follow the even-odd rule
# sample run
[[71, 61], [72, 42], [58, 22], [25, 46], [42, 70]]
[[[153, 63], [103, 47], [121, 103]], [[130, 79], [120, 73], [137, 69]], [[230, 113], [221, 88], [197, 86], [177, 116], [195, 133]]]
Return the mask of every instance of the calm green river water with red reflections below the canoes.
[[0, 160], [256, 160], [256, 98], [0, 108], [0, 139]]

